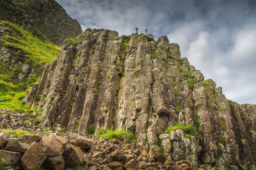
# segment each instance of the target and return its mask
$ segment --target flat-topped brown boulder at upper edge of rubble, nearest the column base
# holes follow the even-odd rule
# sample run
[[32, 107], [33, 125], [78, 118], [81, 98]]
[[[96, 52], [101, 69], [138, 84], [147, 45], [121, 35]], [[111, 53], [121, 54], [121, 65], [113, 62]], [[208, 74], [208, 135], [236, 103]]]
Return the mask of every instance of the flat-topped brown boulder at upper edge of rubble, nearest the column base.
[[81, 136], [79, 134], [74, 134], [72, 139], [70, 140], [72, 145], [78, 146], [82, 150], [90, 150], [93, 146], [93, 140], [90, 138], [86, 138], [85, 136]]

